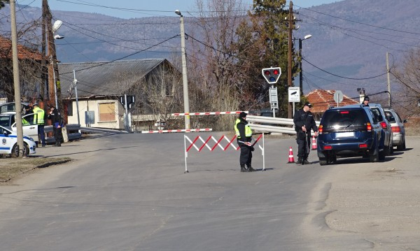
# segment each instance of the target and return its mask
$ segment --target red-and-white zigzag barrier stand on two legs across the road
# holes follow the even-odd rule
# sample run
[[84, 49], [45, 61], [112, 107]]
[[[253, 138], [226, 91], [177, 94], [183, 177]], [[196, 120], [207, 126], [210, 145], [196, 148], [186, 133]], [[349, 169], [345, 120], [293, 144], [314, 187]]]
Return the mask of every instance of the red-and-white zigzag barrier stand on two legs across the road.
[[[188, 168], [187, 168], [187, 157], [188, 157], [188, 151], [191, 150], [191, 148], [195, 148], [197, 150], [197, 152], [201, 152], [204, 147], [207, 147], [207, 149], [210, 150], [210, 152], [214, 151], [217, 147], [221, 148], [221, 150], [223, 150], [224, 152], [226, 150], [228, 150], [228, 148], [231, 146], [235, 151], [239, 150], [240, 147], [239, 146], [235, 146], [233, 141], [235, 141], [235, 139], [237, 138], [237, 136], [235, 135], [231, 140], [223, 135], [221, 136], [221, 138], [219, 138], [218, 140], [216, 140], [216, 138], [214, 138], [214, 136], [209, 136], [205, 141], [201, 136], [197, 136], [194, 138], [193, 141], [191, 141], [190, 138], [188, 138], [188, 136], [186, 136], [186, 134], [184, 134], [184, 158], [186, 160], [186, 171], [184, 173], [188, 173]], [[258, 141], [260, 141], [260, 139], [262, 138], [262, 146], [258, 143]], [[228, 145], [223, 146], [221, 141], [223, 141], [223, 139], [225, 141], [228, 141]], [[196, 143], [197, 141], [202, 141], [202, 145], [197, 146]], [[209, 141], [213, 140], [215, 142], [215, 144], [213, 146], [209, 145]], [[190, 142], [190, 145], [188, 145], [187, 147], [187, 141]], [[261, 150], [261, 155], [262, 155], [262, 171], [265, 171], [265, 155], [264, 155], [264, 134], [260, 134], [260, 136], [254, 141], [254, 143], [252, 144], [252, 146], [254, 146], [256, 143], [258, 143], [258, 148], [260, 148]]]

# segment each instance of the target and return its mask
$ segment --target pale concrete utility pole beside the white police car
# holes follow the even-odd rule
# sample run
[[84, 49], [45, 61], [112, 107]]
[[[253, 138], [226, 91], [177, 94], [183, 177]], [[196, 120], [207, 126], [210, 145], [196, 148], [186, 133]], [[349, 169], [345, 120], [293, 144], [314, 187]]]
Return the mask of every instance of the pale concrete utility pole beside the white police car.
[[[13, 57], [13, 85], [15, 88], [15, 110], [16, 110], [16, 133], [18, 134], [18, 153], [25, 156], [23, 148], [22, 129], [22, 104], [20, 103], [20, 79], [19, 79], [19, 58], [18, 58], [18, 32], [16, 31], [16, 8], [15, 1], [10, 1], [10, 21], [12, 31], [12, 57]], [[23, 152], [20, 155], [20, 151]]]

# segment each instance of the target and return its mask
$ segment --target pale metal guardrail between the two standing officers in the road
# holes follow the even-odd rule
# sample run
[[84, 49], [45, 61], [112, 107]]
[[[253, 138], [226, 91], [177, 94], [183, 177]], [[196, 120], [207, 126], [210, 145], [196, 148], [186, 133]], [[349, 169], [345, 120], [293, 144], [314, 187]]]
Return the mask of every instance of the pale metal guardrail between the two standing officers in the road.
[[[246, 121], [250, 122], [250, 127], [255, 131], [291, 135], [296, 134], [295, 127], [293, 127], [293, 119], [248, 115], [246, 116]], [[285, 125], [285, 127], [267, 124], [281, 124]], [[319, 125], [319, 121], [316, 121], [316, 125]]]

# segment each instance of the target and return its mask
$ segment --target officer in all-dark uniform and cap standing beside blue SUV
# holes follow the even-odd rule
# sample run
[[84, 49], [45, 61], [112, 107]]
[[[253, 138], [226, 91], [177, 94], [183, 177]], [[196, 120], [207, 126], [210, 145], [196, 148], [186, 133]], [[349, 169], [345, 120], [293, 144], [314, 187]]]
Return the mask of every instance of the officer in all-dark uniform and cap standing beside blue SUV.
[[311, 164], [308, 162], [311, 129], [314, 130], [315, 136], [318, 136], [318, 127], [316, 127], [314, 115], [310, 111], [311, 107], [311, 103], [304, 103], [303, 108], [297, 110], [295, 116], [293, 117], [293, 123], [295, 123], [298, 157], [296, 164]]

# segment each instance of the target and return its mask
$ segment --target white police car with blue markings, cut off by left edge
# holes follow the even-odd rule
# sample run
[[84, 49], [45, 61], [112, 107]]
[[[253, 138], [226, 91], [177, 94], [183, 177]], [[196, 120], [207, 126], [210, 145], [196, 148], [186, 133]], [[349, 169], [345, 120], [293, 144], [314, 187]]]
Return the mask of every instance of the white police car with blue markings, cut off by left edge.
[[[36, 143], [33, 138], [23, 136], [25, 155], [36, 153]], [[0, 126], [0, 155], [18, 156], [18, 136], [15, 132]]]

